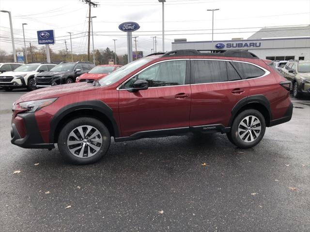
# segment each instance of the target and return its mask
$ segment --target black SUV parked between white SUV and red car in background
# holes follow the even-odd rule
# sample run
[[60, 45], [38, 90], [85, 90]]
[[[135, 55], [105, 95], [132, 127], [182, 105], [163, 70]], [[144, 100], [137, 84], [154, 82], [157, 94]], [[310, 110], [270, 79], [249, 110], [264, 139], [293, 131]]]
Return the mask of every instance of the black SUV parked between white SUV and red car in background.
[[89, 72], [95, 65], [88, 61], [61, 62], [49, 72], [39, 73], [35, 77], [35, 86], [50, 87], [62, 84], [70, 84], [83, 73]]

